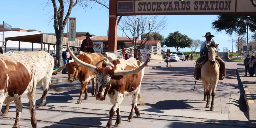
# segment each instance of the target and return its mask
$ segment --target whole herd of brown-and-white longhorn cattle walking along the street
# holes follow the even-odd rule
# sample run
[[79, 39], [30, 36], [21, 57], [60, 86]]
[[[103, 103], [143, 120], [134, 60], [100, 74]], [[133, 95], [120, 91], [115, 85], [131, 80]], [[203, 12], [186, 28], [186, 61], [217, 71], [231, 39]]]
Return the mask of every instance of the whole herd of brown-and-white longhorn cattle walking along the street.
[[[112, 127], [112, 119], [117, 114], [116, 127], [121, 126], [120, 104], [124, 96], [132, 95], [132, 108], [128, 121], [133, 120], [133, 112], [140, 115], [137, 100], [144, 105], [140, 94], [141, 81], [144, 75], [144, 66], [140, 61], [130, 58], [124, 60], [120, 53], [83, 53], [75, 55], [71, 52], [69, 45], [67, 49], [75, 62], [67, 63], [53, 71], [54, 59], [45, 51], [26, 52], [9, 51], [0, 54], [0, 110], [3, 103], [6, 104], [1, 115], [9, 112], [9, 103], [14, 101], [16, 106], [16, 119], [13, 127], [20, 127], [19, 120], [22, 112], [22, 102], [20, 96], [26, 94], [29, 100], [29, 110], [31, 112], [31, 125], [37, 127], [36, 120], [36, 85], [42, 85], [42, 101], [38, 108], [42, 108], [46, 103], [46, 94], [49, 85], [54, 91], [59, 91], [51, 84], [51, 75], [67, 68], [68, 82], [73, 82], [75, 78], [81, 83], [80, 97], [77, 104], [82, 102], [82, 94], [86, 91], [84, 99], [88, 99], [87, 84], [92, 80], [92, 95], [96, 100], [105, 100], [109, 96], [113, 104], [110, 109], [110, 118], [106, 127]], [[150, 58], [150, 57], [149, 57]], [[148, 59], [149, 59], [148, 58]], [[147, 62], [147, 61], [146, 61]], [[96, 93], [94, 84], [96, 79]]]

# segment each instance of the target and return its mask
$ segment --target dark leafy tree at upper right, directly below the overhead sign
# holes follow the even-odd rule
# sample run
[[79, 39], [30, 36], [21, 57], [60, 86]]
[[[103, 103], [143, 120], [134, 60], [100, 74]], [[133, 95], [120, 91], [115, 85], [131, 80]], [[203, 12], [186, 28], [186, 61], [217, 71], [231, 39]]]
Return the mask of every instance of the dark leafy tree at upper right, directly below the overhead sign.
[[256, 15], [218, 15], [217, 19], [212, 22], [212, 28], [217, 32], [224, 30], [226, 34], [237, 34], [238, 36], [245, 35], [246, 23], [245, 20], [249, 19], [249, 30], [256, 31]]

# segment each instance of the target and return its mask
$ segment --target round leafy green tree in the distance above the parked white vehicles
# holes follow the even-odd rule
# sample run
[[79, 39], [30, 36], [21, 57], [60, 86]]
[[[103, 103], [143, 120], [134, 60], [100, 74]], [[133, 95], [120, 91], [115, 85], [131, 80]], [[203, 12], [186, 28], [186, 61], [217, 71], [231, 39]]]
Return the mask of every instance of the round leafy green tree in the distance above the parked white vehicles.
[[179, 33], [179, 31], [170, 33], [164, 40], [166, 47], [174, 47], [177, 51], [181, 48], [189, 47], [192, 44], [192, 39], [187, 35]]

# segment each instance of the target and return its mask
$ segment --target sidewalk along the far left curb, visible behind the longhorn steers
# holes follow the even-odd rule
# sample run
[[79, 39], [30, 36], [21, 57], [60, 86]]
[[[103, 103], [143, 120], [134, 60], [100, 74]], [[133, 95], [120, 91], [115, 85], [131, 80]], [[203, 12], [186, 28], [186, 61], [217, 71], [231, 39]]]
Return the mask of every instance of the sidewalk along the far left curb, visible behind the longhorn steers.
[[[145, 67], [145, 70], [159, 69], [159, 68], [161, 68], [161, 66], [149, 66], [149, 67]], [[67, 79], [68, 79], [67, 74], [61, 74], [61, 72], [58, 72], [57, 75], [51, 76], [51, 83], [65, 82], [67, 81]]]

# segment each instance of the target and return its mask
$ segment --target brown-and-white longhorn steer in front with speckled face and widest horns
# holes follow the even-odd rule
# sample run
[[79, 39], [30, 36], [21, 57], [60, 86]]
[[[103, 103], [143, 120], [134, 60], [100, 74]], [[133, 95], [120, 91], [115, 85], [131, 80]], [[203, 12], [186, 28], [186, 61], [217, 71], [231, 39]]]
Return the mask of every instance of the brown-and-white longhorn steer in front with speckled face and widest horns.
[[[67, 49], [71, 51], [68, 44]], [[140, 95], [140, 88], [144, 75], [144, 66], [146, 63], [142, 65], [140, 61], [133, 58], [128, 60], [116, 59], [108, 63], [106, 67], [96, 67], [80, 61], [72, 53], [71, 56], [77, 63], [80, 64], [80, 66], [85, 67], [97, 74], [97, 83], [100, 85], [100, 87], [96, 95], [96, 99], [105, 100], [106, 94], [108, 94], [110, 102], [113, 104], [112, 108], [110, 109], [110, 118], [106, 127], [112, 127], [112, 119], [115, 112], [117, 112], [117, 120], [114, 126], [121, 126], [120, 104], [125, 95], [132, 95], [133, 97], [132, 109], [128, 117], [128, 121], [133, 120], [133, 109], [135, 110], [137, 116], [140, 115], [137, 100], [139, 100], [141, 105], [145, 104]]]

